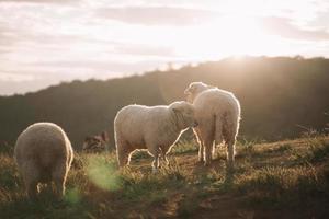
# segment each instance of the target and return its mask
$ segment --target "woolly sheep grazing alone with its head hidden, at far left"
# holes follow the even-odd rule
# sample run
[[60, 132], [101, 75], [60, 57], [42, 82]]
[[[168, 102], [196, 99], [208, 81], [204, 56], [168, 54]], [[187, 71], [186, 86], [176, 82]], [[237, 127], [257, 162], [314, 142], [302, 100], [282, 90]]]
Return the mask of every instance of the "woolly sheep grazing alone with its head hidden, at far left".
[[18, 138], [14, 160], [23, 176], [27, 196], [35, 199], [38, 184], [54, 181], [57, 197], [65, 194], [65, 183], [73, 150], [65, 131], [53, 123], [35, 123]]

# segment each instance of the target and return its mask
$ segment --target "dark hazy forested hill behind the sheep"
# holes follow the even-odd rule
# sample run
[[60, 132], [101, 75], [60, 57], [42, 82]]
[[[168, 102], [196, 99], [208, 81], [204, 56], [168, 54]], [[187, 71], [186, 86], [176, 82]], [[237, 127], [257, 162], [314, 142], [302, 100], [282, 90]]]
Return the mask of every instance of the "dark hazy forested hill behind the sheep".
[[106, 130], [127, 104], [158, 105], [183, 100], [192, 81], [231, 91], [241, 103], [239, 138], [279, 140], [329, 120], [329, 59], [245, 57], [146, 72], [143, 76], [64, 82], [35, 93], [0, 97], [0, 142], [12, 145], [26, 126], [53, 122], [76, 149], [84, 137]]

